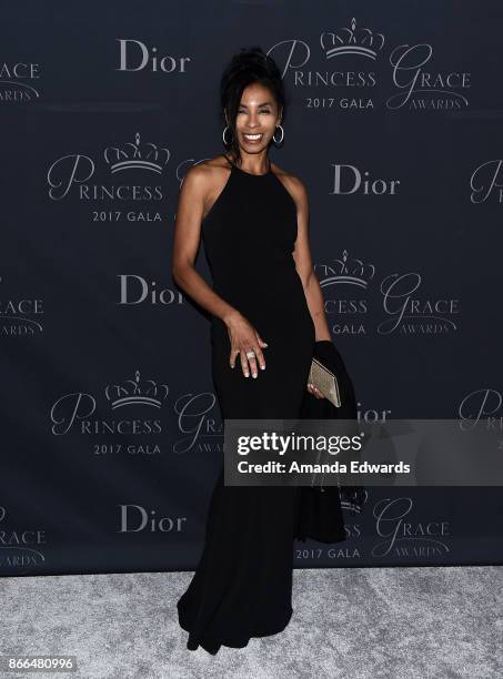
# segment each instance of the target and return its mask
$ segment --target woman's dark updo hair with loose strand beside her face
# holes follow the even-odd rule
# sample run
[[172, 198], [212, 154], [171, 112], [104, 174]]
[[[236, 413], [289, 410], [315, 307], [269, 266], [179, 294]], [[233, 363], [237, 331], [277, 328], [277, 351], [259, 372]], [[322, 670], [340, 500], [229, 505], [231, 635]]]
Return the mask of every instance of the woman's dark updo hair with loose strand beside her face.
[[[251, 47], [248, 49], [241, 48], [241, 50], [232, 57], [229, 65], [225, 68], [220, 83], [222, 123], [223, 128], [229, 125], [229, 129], [225, 131], [225, 140], [228, 140], [229, 143], [225, 144], [225, 146], [230, 151], [234, 162], [238, 159], [241, 161], [238, 135], [235, 132], [235, 119], [238, 116], [241, 97], [243, 90], [255, 82], [259, 82], [272, 92], [279, 110], [282, 110], [281, 124], [284, 122], [286, 113], [285, 94], [283, 80], [275, 61], [272, 57], [265, 54], [260, 47]], [[228, 116], [227, 120], [225, 112]]]

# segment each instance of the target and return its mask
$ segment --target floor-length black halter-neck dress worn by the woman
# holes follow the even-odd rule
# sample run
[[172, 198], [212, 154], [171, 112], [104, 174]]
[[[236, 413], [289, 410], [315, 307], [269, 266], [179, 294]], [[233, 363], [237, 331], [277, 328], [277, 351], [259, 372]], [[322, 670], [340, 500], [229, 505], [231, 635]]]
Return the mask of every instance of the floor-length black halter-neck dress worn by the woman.
[[[269, 162], [251, 174], [229, 161], [229, 179], [202, 223], [213, 290], [269, 344], [266, 368], [230, 367], [225, 324], [211, 322], [212, 375], [222, 419], [295, 418], [314, 345], [314, 324], [292, 252], [296, 205]], [[296, 488], [224, 486], [222, 468], [207, 518], [203, 551], [178, 601], [187, 648], [214, 655], [221, 645], [283, 630], [292, 615]]]

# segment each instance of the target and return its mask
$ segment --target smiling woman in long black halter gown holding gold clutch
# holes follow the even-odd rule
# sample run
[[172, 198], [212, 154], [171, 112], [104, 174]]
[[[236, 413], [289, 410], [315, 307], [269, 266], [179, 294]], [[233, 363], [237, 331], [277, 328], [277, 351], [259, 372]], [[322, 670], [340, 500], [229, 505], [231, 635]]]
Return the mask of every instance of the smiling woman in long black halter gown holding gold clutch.
[[[283, 141], [280, 71], [260, 48], [233, 57], [221, 81], [227, 152], [194, 165], [180, 191], [177, 284], [211, 314], [212, 375], [224, 418], [299, 416], [315, 342], [330, 342], [308, 236], [303, 183], [271, 163]], [[279, 139], [280, 138], [280, 139]], [[213, 287], [197, 273], [202, 235]], [[187, 647], [283, 630], [292, 615], [295, 487], [224, 486], [223, 462], [201, 560], [178, 601]]]

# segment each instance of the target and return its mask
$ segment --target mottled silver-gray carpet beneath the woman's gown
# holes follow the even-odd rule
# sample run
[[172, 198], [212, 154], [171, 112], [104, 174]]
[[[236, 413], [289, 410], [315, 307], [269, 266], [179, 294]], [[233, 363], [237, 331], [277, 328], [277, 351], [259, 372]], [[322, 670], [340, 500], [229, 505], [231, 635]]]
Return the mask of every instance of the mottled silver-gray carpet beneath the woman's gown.
[[281, 634], [185, 649], [175, 602], [192, 572], [2, 578], [1, 653], [74, 655], [72, 673], [6, 677], [501, 679], [502, 567], [293, 571]]

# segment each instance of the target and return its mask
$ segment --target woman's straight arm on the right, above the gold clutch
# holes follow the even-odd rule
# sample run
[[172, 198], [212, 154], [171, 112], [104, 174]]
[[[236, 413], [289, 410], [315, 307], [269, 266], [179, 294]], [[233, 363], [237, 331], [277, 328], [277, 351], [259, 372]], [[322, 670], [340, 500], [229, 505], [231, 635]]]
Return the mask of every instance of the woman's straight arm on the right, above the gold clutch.
[[293, 252], [295, 268], [302, 281], [304, 294], [311, 313], [315, 342], [332, 342], [326, 321], [324, 300], [320, 283], [313, 270], [311, 249], [309, 244], [309, 197], [304, 184], [298, 178], [289, 178], [289, 189], [296, 203], [296, 241]]

